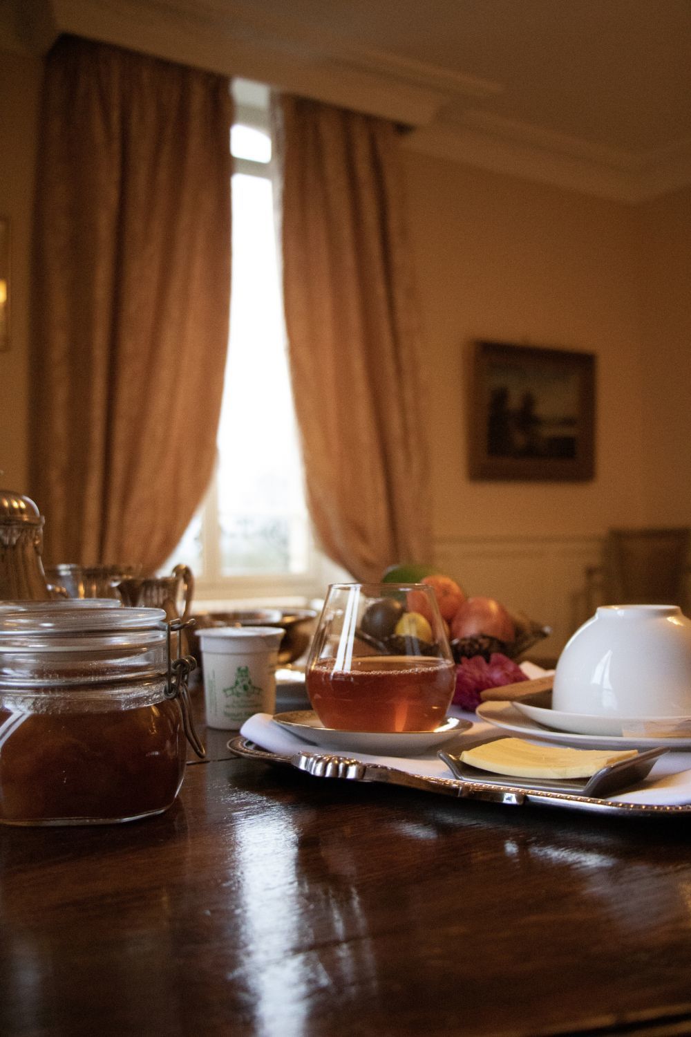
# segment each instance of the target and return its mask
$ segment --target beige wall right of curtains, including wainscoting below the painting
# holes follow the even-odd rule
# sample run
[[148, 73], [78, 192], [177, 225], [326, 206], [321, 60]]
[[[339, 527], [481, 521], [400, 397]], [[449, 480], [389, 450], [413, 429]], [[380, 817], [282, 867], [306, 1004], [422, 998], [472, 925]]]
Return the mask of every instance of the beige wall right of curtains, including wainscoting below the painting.
[[[599, 562], [606, 529], [665, 515], [652, 488], [659, 417], [642, 405], [650, 361], [639, 270], [655, 215], [643, 225], [625, 204], [414, 151], [406, 169], [427, 360], [434, 560], [468, 593], [496, 596], [549, 623], [554, 633], [541, 650], [556, 654], [592, 611], [585, 570]], [[661, 272], [665, 243], [660, 229]], [[478, 338], [596, 354], [594, 480], [468, 479], [467, 365]]]

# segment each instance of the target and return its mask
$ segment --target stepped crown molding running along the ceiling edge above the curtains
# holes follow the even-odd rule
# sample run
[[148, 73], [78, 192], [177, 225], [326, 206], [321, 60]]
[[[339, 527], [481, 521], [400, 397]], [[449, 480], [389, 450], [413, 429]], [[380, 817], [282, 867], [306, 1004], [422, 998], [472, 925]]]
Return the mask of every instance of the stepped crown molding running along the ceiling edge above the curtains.
[[250, 0], [9, 0], [5, 10], [10, 49], [13, 38], [46, 53], [61, 32], [99, 39], [404, 123], [407, 147], [453, 162], [628, 204], [691, 184], [689, 140], [635, 155], [501, 118], [481, 107], [501, 83], [306, 26], [289, 5], [268, 15]]

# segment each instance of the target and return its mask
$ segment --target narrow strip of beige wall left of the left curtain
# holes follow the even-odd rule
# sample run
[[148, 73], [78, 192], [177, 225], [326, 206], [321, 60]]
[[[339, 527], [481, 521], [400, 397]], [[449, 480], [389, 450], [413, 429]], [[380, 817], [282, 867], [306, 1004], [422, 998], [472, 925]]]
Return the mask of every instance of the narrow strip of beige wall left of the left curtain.
[[28, 477], [29, 249], [41, 62], [0, 51], [0, 216], [9, 217], [10, 348], [0, 353], [0, 484]]

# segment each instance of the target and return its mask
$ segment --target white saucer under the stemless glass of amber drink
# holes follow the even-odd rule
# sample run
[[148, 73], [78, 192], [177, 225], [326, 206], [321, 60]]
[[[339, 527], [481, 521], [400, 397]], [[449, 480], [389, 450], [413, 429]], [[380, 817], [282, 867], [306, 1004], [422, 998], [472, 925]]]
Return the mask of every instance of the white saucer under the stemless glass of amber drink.
[[346, 749], [353, 753], [371, 753], [375, 756], [420, 756], [428, 749], [442, 746], [444, 741], [467, 731], [472, 726], [468, 720], [448, 717], [434, 731], [403, 731], [385, 734], [380, 731], [340, 731], [324, 727], [312, 709], [277, 713], [277, 724], [297, 735], [303, 741], [322, 749]]

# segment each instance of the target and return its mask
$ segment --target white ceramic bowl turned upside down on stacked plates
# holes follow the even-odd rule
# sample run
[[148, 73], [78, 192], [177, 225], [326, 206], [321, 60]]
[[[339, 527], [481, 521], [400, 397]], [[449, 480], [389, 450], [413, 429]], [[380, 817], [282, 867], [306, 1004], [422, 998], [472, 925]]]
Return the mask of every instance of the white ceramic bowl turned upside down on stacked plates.
[[599, 608], [557, 661], [552, 709], [691, 717], [691, 620], [674, 605]]

